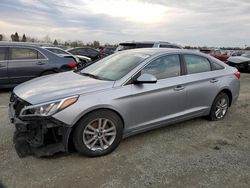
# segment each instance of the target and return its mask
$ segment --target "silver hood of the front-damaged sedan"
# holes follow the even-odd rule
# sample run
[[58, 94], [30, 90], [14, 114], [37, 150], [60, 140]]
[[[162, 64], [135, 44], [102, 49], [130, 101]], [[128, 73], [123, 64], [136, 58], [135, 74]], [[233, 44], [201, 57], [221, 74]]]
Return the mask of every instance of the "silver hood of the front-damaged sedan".
[[96, 80], [73, 71], [39, 77], [14, 89], [21, 99], [39, 104], [78, 94], [112, 88], [113, 81]]

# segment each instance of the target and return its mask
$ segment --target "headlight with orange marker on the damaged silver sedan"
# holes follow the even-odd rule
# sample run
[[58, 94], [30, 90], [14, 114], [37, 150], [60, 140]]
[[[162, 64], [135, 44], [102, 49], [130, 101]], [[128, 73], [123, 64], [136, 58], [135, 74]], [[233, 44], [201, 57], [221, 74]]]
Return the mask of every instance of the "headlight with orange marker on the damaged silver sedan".
[[24, 107], [20, 112], [20, 117], [53, 115], [74, 104], [77, 101], [78, 97], [79, 96], [67, 97], [48, 103]]

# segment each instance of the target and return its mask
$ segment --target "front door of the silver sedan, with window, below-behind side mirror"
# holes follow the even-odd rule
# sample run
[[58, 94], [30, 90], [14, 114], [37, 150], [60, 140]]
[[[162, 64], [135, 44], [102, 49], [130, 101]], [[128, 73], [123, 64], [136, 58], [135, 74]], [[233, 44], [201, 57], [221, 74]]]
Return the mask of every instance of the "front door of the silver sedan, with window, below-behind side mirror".
[[185, 79], [181, 76], [179, 55], [153, 60], [141, 70], [144, 73], [154, 75], [157, 83], [132, 85], [131, 131], [161, 124], [185, 111]]

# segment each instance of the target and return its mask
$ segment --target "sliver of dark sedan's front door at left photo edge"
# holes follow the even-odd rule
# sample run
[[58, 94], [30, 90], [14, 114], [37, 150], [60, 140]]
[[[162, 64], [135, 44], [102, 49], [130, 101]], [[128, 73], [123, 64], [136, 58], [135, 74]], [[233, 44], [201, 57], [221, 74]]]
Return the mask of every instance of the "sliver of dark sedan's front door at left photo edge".
[[0, 47], [0, 85], [8, 84], [7, 48]]

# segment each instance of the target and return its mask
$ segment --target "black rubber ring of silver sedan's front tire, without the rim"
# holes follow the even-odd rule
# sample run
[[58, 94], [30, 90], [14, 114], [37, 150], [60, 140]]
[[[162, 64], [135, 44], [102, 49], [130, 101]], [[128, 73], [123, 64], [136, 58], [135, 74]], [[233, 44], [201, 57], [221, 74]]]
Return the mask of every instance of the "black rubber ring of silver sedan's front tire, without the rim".
[[[87, 148], [87, 146], [85, 146], [83, 142], [83, 131], [91, 121], [98, 118], [106, 118], [114, 123], [116, 127], [116, 138], [114, 142], [111, 144], [111, 146], [109, 146], [107, 149], [92, 151], [89, 148]], [[112, 111], [98, 110], [86, 115], [85, 117], [79, 120], [73, 132], [73, 143], [76, 150], [80, 154], [83, 154], [88, 157], [97, 157], [111, 153], [119, 145], [120, 141], [122, 140], [122, 135], [123, 135], [123, 122], [121, 118]]]

